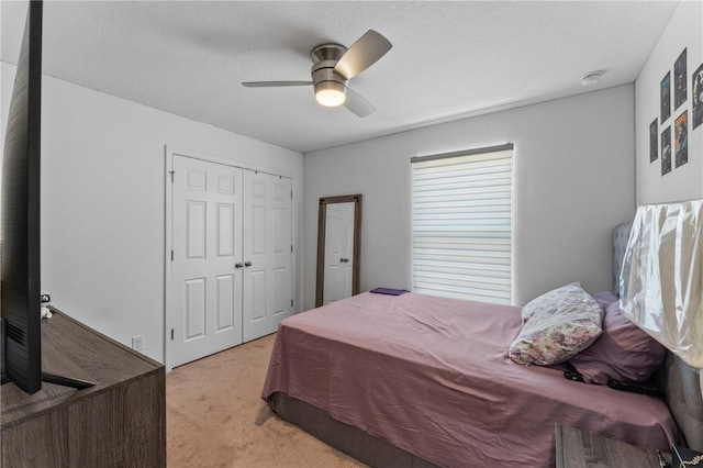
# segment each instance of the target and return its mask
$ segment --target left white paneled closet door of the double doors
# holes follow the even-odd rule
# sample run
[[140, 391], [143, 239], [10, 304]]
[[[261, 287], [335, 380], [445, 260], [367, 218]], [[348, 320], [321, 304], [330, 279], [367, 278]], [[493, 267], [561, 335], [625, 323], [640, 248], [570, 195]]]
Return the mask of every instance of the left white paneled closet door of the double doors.
[[242, 343], [242, 169], [174, 156], [171, 365]]

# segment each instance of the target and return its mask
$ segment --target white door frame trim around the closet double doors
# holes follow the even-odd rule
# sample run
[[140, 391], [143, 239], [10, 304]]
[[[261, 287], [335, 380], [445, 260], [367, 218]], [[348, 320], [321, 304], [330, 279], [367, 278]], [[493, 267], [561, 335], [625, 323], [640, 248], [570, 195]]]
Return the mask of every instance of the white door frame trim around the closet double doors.
[[[171, 307], [174, 304], [174, 271], [171, 261], [171, 252], [174, 249], [174, 156], [189, 157], [192, 159], [200, 159], [207, 163], [222, 164], [225, 166], [235, 167], [238, 169], [256, 170], [259, 172], [270, 174], [277, 177], [287, 177], [291, 179], [291, 192], [293, 191], [293, 175], [288, 174], [284, 170], [272, 171], [270, 168], [257, 167], [255, 164], [244, 164], [233, 159], [227, 159], [210, 154], [197, 152], [193, 149], [185, 149], [174, 145], [165, 145], [164, 154], [164, 190], [165, 190], [165, 216], [164, 216], [164, 366], [166, 371], [169, 372], [174, 369], [171, 364]], [[291, 203], [291, 230], [293, 245], [298, 245], [295, 237], [295, 219], [293, 216], [294, 204]], [[293, 296], [297, 294], [295, 290], [295, 256], [291, 258], [292, 274], [293, 274]], [[298, 300], [295, 302], [299, 302]], [[295, 308], [293, 309], [293, 314]]]

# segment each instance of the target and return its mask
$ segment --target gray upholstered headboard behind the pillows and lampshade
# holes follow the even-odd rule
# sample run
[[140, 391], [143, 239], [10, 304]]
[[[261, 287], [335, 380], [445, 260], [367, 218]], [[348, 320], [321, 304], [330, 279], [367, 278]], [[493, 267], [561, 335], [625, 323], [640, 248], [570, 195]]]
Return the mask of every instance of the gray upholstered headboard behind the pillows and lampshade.
[[[613, 230], [613, 291], [620, 290], [620, 272], [627, 248], [632, 223]], [[666, 390], [667, 404], [679, 424], [689, 447], [703, 452], [703, 395], [700, 370], [685, 364], [673, 353], [667, 353], [663, 367], [655, 379]]]

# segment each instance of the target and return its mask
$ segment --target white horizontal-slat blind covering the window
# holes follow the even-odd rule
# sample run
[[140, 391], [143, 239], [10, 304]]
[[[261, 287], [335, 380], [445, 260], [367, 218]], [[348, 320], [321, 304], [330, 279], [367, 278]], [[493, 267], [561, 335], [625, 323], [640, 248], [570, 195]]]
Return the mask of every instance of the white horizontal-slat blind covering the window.
[[413, 290], [510, 304], [513, 145], [412, 158]]

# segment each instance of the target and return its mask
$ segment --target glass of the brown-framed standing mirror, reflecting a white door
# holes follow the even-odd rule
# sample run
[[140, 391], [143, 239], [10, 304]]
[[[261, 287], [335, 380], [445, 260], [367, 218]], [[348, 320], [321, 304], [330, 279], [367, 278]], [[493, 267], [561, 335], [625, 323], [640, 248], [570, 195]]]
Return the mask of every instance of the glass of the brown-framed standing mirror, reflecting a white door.
[[352, 296], [354, 265], [354, 202], [330, 203], [325, 220], [323, 303]]

